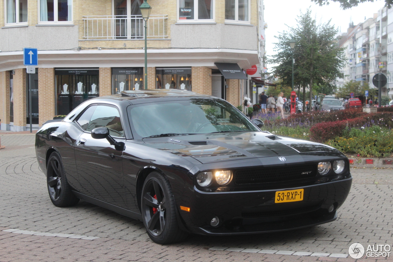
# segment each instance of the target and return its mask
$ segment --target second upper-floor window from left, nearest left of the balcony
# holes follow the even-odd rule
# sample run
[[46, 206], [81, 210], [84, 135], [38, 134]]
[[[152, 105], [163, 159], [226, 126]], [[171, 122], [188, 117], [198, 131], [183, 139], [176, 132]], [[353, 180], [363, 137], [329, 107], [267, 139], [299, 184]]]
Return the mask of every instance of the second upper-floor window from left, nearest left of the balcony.
[[72, 0], [39, 0], [40, 22], [72, 21]]

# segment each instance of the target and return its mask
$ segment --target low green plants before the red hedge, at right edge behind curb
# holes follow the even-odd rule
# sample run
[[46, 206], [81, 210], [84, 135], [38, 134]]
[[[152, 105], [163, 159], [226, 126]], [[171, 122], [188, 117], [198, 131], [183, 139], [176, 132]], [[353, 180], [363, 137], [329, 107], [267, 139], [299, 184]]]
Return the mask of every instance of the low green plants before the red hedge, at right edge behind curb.
[[393, 153], [393, 132], [377, 125], [347, 128], [342, 137], [331, 139], [327, 144], [359, 157], [389, 157]]

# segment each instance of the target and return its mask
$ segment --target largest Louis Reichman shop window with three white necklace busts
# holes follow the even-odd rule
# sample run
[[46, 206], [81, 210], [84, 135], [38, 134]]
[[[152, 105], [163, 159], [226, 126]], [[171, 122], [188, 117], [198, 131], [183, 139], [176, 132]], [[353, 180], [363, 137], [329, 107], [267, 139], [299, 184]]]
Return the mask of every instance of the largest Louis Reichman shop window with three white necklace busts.
[[84, 101], [98, 97], [98, 73], [98, 68], [56, 68], [56, 114], [68, 114]]

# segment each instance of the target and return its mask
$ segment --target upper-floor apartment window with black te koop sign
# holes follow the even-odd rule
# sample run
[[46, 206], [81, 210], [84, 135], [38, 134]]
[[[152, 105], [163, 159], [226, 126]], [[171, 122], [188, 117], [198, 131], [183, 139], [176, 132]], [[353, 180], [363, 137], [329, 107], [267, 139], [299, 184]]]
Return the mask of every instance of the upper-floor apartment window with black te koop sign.
[[179, 0], [179, 22], [213, 20], [214, 0]]

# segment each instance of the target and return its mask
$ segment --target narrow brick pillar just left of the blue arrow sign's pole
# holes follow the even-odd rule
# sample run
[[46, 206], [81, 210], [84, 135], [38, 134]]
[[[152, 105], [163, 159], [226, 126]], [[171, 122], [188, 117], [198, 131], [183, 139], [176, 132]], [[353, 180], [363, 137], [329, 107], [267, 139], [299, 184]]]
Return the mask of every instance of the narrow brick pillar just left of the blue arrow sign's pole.
[[26, 130], [26, 68], [15, 69], [13, 77], [14, 128]]

